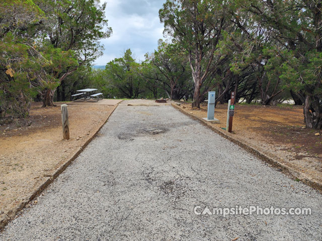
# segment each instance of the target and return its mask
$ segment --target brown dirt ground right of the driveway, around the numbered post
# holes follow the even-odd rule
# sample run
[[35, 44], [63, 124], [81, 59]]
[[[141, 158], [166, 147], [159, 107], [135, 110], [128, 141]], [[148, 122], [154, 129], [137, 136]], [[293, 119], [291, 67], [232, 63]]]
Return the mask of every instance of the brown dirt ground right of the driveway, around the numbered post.
[[[181, 102], [180, 107], [198, 117], [207, 117], [206, 103], [200, 110], [191, 109], [190, 103]], [[322, 183], [322, 131], [305, 129], [302, 111], [302, 106], [237, 104], [232, 131], [243, 142]], [[227, 104], [216, 106], [215, 118], [220, 124], [212, 125], [226, 128]]]

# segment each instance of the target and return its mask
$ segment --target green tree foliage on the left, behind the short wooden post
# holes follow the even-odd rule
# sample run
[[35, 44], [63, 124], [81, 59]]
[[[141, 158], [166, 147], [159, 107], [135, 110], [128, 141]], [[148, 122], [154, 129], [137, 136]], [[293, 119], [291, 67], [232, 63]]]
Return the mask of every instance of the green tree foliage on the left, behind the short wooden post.
[[102, 53], [109, 37], [96, 0], [2, 0], [0, 114], [28, 116], [33, 97], [53, 105], [56, 88]]

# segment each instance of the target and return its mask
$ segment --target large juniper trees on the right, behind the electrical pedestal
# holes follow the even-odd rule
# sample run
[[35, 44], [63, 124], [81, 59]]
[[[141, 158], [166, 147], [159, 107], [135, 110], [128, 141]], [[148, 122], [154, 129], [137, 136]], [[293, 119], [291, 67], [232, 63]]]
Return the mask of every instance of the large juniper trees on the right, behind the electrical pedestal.
[[189, 56], [192, 106], [209, 77], [219, 99], [230, 85], [237, 97], [265, 105], [291, 90], [304, 103], [306, 127], [321, 129], [321, 13], [318, 0], [168, 0], [159, 16]]

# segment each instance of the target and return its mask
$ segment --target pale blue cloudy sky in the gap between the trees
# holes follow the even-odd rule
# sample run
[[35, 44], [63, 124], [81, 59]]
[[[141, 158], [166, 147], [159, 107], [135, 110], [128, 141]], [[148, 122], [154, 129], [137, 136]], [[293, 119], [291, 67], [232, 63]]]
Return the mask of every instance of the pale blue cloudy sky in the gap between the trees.
[[104, 55], [95, 65], [106, 65], [119, 58], [128, 48], [137, 60], [144, 60], [146, 52], [157, 48], [157, 40], [163, 38], [163, 24], [158, 11], [166, 0], [101, 0], [107, 2], [106, 18], [113, 34], [101, 40], [105, 46]]

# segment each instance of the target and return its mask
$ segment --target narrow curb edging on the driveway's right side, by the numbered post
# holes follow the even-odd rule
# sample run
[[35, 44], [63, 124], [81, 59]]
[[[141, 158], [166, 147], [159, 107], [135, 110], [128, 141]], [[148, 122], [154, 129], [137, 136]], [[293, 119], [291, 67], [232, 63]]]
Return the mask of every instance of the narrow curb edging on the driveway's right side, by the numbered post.
[[297, 180], [305, 183], [306, 185], [308, 185], [308, 186], [310, 186], [310, 187], [322, 192], [322, 183], [320, 183], [318, 180], [308, 176], [305, 173], [298, 172], [297, 170], [294, 170], [291, 167], [285, 165], [284, 163], [282, 163], [282, 159], [279, 160], [278, 158], [273, 158], [271, 156], [268, 156], [267, 154], [263, 153], [261, 150], [258, 150], [258, 149], [254, 148], [254, 147], [251, 147], [250, 145], [245, 143], [243, 140], [238, 140], [236, 137], [233, 136], [234, 134], [227, 133], [226, 131], [223, 131], [222, 129], [220, 129], [218, 127], [212, 126], [207, 121], [205, 121], [204, 119], [187, 112], [183, 108], [179, 107], [178, 104], [172, 103], [171, 105], [173, 107], [175, 107], [176, 109], [178, 109], [179, 111], [181, 111], [182, 113], [184, 113], [184, 114], [190, 116], [191, 118], [199, 121], [201, 124], [203, 124], [204, 126], [210, 128], [212, 131], [214, 131], [215, 133], [219, 134], [220, 136], [222, 136], [222, 137], [226, 138], [227, 140], [235, 143], [239, 147], [244, 148], [246, 151], [248, 151], [249, 153], [255, 155], [256, 157], [258, 157], [262, 161], [270, 164], [272, 167], [280, 169], [281, 172], [283, 172], [284, 174], [288, 175], [292, 179], [297, 179]]

